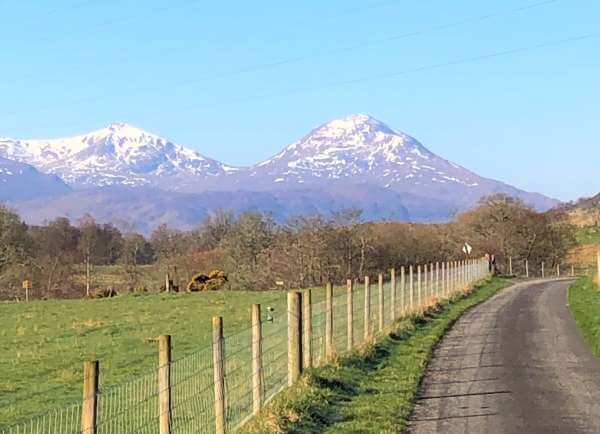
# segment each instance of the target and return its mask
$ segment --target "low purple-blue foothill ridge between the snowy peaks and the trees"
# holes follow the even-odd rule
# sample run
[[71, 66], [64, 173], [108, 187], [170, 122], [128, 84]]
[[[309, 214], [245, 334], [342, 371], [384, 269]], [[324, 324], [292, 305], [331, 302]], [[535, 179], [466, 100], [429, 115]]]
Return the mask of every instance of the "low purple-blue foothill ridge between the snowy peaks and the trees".
[[[219, 208], [236, 213], [248, 210], [268, 212], [278, 221], [298, 214], [328, 214], [332, 210], [359, 207], [365, 210], [364, 217], [369, 220], [408, 218], [399, 195], [373, 189], [361, 193], [360, 189], [353, 189], [352, 197], [348, 197], [344, 193], [315, 190], [177, 193], [152, 187], [112, 186], [73, 191], [46, 203], [32, 200], [15, 206], [21, 216], [32, 224], [41, 224], [58, 216], [76, 221], [92, 212], [99, 222], [127, 223], [128, 227], [133, 224], [137, 231], [145, 234], [162, 223], [191, 229]], [[356, 194], [359, 195], [358, 200]]]

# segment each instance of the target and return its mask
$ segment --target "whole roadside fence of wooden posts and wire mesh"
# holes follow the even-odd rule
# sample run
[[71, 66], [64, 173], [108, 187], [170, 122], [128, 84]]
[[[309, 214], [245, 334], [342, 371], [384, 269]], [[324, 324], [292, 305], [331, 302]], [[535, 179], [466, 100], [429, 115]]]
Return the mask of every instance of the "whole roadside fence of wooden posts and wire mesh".
[[[0, 428], [0, 434], [233, 432], [298, 372], [348, 354], [398, 319], [472, 288], [488, 272], [484, 259], [427, 264], [290, 292], [302, 300], [300, 318], [258, 307], [247, 328], [229, 334], [221, 319], [212, 345], [179, 358], [172, 357], [169, 337], [166, 347], [159, 345], [156, 368], [109, 387], [100, 384], [100, 364], [86, 364], [80, 402]], [[299, 339], [292, 338], [294, 330]]]

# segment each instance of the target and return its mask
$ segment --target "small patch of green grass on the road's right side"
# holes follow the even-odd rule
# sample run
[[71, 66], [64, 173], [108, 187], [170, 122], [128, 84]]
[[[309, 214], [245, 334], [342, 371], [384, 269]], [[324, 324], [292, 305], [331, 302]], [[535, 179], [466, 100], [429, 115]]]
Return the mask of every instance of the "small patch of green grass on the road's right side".
[[600, 357], [600, 291], [591, 278], [582, 277], [571, 285], [569, 307], [585, 340]]

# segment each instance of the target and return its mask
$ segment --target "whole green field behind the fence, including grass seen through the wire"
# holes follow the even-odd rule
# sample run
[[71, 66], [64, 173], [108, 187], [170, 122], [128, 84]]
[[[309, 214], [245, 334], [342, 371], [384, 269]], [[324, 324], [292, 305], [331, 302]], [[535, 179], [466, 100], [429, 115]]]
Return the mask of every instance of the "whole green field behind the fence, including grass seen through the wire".
[[[433, 273], [423, 274], [415, 302], [427, 305], [434, 294]], [[370, 328], [380, 315], [376, 284], [370, 295]], [[389, 282], [382, 287], [388, 299]], [[313, 363], [324, 357], [325, 291], [313, 291]], [[355, 289], [354, 326], [363, 327], [365, 292]], [[418, 297], [417, 297], [418, 295]], [[395, 314], [409, 306], [408, 290], [398, 294]], [[347, 293], [334, 288], [333, 344], [346, 347]], [[61, 433], [80, 424], [83, 362], [100, 360], [100, 433], [156, 431], [158, 352], [155, 338], [173, 338], [173, 423], [181, 434], [214, 428], [211, 349], [213, 316], [225, 322], [226, 424], [239, 425], [252, 409], [250, 310], [253, 303], [275, 308], [263, 325], [265, 399], [287, 384], [286, 291], [125, 294], [111, 299], [49, 300], [0, 304], [0, 432], [41, 433], [37, 427], [61, 421]], [[385, 321], [390, 321], [389, 306]], [[411, 304], [412, 306], [412, 304]], [[416, 307], [418, 308], [418, 307]], [[263, 310], [263, 319], [266, 316]], [[355, 344], [360, 345], [360, 333]], [[75, 405], [71, 405], [75, 404]], [[57, 411], [54, 411], [57, 410]], [[35, 419], [34, 416], [40, 415]], [[33, 421], [27, 426], [23, 422]]]

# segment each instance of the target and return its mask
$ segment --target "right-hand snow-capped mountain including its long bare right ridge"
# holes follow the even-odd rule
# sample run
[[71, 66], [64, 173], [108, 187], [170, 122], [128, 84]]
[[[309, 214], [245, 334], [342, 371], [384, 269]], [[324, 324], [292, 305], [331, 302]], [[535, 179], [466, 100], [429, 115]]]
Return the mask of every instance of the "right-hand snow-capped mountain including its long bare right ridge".
[[439, 199], [455, 211], [497, 192], [521, 197], [541, 209], [556, 203], [483, 178], [363, 114], [325, 123], [274, 157], [230, 178], [234, 188], [253, 190], [377, 186], [424, 200]]

